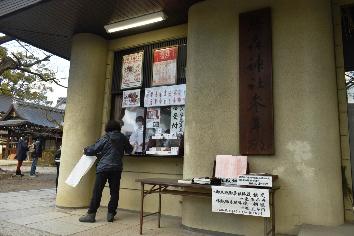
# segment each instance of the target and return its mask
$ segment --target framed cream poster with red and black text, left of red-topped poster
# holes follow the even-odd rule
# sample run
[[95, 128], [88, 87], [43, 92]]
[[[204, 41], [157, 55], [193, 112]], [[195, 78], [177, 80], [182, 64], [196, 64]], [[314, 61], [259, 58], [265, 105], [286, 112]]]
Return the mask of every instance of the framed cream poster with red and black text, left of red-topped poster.
[[144, 50], [122, 57], [120, 89], [142, 87]]

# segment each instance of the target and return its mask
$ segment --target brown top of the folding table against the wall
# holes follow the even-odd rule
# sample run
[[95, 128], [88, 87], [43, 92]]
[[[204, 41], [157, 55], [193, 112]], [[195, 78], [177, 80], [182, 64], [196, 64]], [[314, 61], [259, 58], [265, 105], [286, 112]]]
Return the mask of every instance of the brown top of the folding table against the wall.
[[[150, 185], [175, 186], [175, 187], [181, 187], [181, 188], [211, 189], [211, 186], [212, 186], [212, 185], [204, 185], [204, 184], [178, 183], [178, 179], [167, 179], [167, 178], [136, 179], [135, 182], [143, 183], [143, 184], [150, 184]], [[218, 184], [218, 185], [213, 185], [213, 186], [229, 186], [229, 187], [269, 189], [269, 190], [280, 189], [280, 186], [273, 186], [272, 188], [261, 187], [261, 186], [230, 185], [230, 184]]]

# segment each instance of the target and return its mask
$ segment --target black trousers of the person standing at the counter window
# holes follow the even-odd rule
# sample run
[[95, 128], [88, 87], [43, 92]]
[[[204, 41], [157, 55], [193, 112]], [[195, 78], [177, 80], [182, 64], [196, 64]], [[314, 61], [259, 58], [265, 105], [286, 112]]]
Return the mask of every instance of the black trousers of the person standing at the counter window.
[[109, 194], [111, 196], [108, 203], [108, 212], [117, 214], [116, 209], [118, 207], [119, 200], [119, 185], [120, 178], [122, 176], [121, 171], [102, 171], [96, 173], [95, 186], [93, 187], [92, 198], [90, 202], [90, 209], [87, 213], [96, 213], [101, 203], [102, 191], [104, 185], [109, 184]]

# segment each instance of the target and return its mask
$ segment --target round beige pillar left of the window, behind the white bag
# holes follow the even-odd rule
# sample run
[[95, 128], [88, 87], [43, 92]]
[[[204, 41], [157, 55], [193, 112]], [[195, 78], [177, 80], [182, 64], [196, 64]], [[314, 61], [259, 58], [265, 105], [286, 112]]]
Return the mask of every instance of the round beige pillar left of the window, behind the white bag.
[[59, 208], [90, 205], [95, 167], [73, 188], [65, 183], [82, 150], [101, 136], [108, 41], [94, 34], [73, 36], [58, 194]]

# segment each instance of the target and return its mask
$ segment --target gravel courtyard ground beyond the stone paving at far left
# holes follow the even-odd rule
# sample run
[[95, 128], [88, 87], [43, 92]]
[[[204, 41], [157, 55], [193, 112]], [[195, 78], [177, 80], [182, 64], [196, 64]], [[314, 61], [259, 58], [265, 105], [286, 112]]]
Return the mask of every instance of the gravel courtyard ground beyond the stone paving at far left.
[[[6, 171], [15, 173], [16, 166], [1, 166]], [[55, 179], [57, 178], [57, 167], [41, 167], [37, 166], [36, 174], [38, 177], [29, 177], [30, 166], [22, 166], [22, 178], [11, 177], [0, 179], [0, 192], [14, 192], [34, 189], [55, 188]]]

